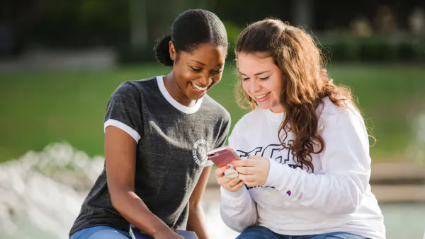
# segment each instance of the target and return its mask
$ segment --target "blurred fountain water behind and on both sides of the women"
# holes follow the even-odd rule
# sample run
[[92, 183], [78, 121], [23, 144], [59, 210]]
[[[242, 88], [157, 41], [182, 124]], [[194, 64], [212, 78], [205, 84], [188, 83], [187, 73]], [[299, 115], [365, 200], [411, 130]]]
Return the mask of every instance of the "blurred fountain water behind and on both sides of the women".
[[[1, 163], [0, 238], [67, 238], [102, 168], [103, 158], [89, 158], [66, 143], [51, 144], [41, 152], [30, 151], [18, 160]], [[205, 199], [202, 206], [211, 238], [238, 235], [222, 223], [217, 199]], [[388, 239], [423, 238], [425, 202], [380, 206]]]

